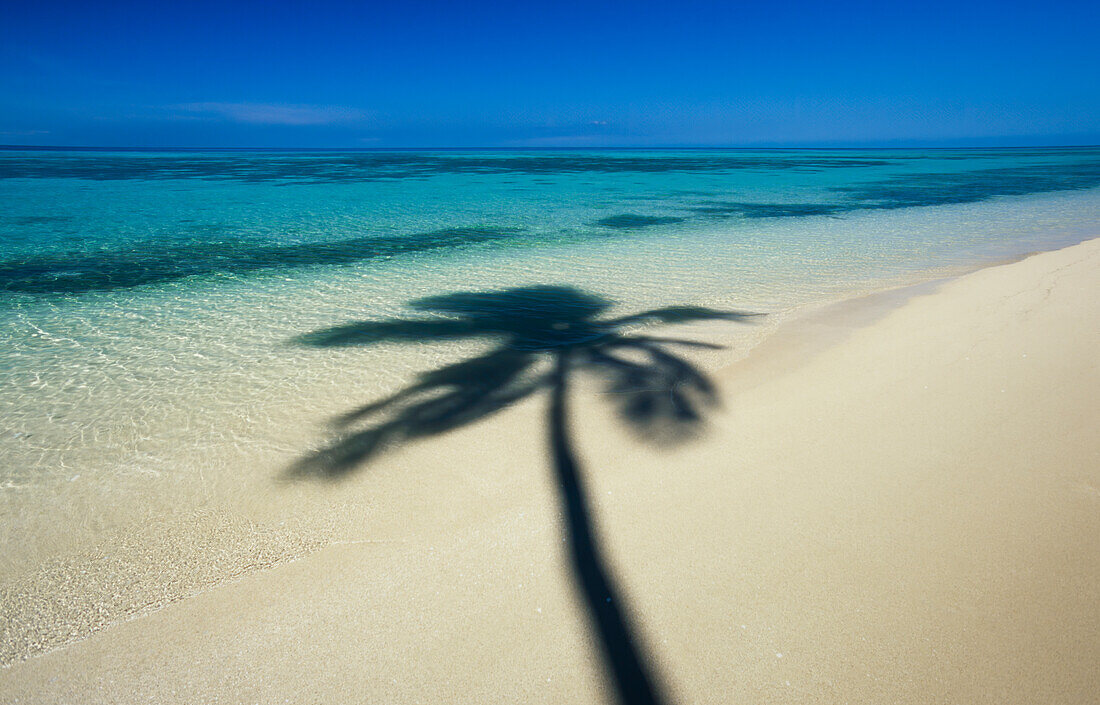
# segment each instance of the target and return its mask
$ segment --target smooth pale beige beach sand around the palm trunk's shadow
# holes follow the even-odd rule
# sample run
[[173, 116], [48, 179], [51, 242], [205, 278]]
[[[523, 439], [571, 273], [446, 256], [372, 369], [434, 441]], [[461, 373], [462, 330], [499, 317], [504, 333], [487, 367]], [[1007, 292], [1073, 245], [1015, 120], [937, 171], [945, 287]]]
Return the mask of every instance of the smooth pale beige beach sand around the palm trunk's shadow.
[[[787, 326], [676, 449], [575, 395], [673, 702], [1096, 702], [1100, 240], [900, 298]], [[358, 538], [0, 670], [0, 702], [602, 702], [543, 415], [394, 453], [341, 488]]]

